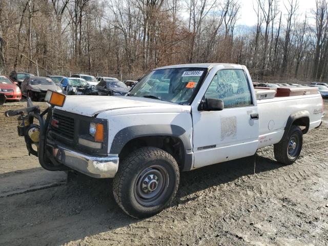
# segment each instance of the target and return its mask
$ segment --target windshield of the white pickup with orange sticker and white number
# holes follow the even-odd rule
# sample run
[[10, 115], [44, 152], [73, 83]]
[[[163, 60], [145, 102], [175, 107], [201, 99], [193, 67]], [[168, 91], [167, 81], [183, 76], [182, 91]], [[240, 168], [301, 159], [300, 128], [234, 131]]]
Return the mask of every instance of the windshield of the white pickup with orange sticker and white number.
[[132, 88], [129, 95], [157, 97], [176, 104], [187, 104], [197, 85], [206, 74], [206, 68], [169, 68], [153, 70]]

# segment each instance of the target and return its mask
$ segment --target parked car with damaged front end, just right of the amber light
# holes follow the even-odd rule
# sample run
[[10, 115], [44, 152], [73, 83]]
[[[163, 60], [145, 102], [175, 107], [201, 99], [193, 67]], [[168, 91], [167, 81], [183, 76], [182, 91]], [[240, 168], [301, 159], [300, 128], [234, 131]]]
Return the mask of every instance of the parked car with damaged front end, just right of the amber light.
[[60, 87], [65, 95], [98, 95], [95, 87], [83, 78], [64, 78], [60, 81]]

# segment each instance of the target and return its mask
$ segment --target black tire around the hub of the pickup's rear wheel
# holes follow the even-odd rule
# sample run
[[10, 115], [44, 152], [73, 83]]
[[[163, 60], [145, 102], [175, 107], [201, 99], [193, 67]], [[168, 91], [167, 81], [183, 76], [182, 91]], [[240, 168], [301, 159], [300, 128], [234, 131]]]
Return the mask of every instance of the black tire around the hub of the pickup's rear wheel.
[[[296, 150], [293, 156], [290, 156], [289, 145], [290, 145], [291, 138], [295, 135], [298, 137], [298, 143], [297, 143], [298, 149]], [[280, 142], [278, 142], [278, 144], [275, 144], [273, 146], [273, 151], [276, 160], [285, 165], [291, 165], [299, 157], [299, 154], [301, 153], [302, 150], [302, 145], [303, 145], [303, 132], [299, 126], [292, 125], [291, 129], [289, 130], [285, 138], [282, 139]]]

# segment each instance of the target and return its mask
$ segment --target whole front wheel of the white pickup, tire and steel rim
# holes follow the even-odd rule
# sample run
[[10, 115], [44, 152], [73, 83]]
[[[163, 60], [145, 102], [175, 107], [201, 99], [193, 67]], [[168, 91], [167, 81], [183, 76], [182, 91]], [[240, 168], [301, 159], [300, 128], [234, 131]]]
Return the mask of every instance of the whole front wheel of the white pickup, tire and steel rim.
[[114, 198], [128, 215], [149, 217], [170, 204], [179, 178], [172, 155], [158, 148], [140, 148], [119, 164], [113, 182]]

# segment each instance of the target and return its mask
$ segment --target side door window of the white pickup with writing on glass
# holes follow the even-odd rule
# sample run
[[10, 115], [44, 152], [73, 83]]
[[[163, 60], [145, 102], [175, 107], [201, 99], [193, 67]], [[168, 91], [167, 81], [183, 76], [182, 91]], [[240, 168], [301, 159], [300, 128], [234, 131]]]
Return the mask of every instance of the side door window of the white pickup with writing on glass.
[[222, 99], [224, 108], [253, 105], [251, 89], [241, 69], [219, 70], [212, 79], [205, 98]]

